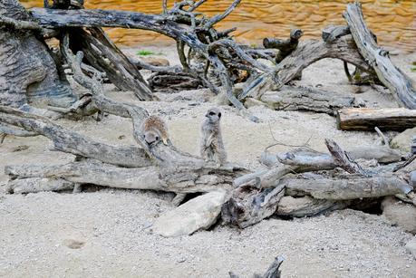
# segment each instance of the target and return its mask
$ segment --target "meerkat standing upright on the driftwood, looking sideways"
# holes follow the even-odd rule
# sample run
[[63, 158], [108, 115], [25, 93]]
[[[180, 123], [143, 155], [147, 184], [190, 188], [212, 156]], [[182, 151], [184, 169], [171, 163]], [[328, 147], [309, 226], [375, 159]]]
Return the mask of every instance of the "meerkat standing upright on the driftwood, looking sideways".
[[200, 155], [207, 162], [214, 161], [217, 165], [223, 165], [227, 162], [227, 153], [219, 122], [221, 111], [218, 108], [211, 108], [205, 117], [201, 125]]

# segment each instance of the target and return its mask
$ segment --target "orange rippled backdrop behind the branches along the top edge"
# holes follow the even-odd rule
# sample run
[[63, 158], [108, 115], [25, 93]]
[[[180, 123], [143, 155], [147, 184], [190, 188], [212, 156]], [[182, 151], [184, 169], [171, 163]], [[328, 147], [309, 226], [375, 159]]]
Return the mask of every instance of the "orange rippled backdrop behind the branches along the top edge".
[[[161, 1], [158, 0], [86, 0], [87, 8], [118, 9], [158, 14]], [[285, 37], [290, 28], [304, 30], [305, 38], [316, 38], [328, 24], [344, 24], [343, 11], [352, 1], [292, 1], [292, 0], [243, 0], [219, 29], [237, 26], [237, 39], [244, 43], [259, 43], [266, 36]], [[416, 0], [362, 0], [363, 13], [379, 43], [389, 48], [406, 52], [416, 51]], [[42, 0], [21, 1], [26, 7], [42, 6]], [[218, 14], [232, 3], [230, 0], [208, 0], [199, 8], [206, 14]], [[173, 4], [173, 1], [169, 1]], [[116, 43], [127, 45], [139, 43], [168, 42], [159, 34], [151, 32], [109, 28], [107, 32]], [[162, 43], [163, 43], [162, 42]]]

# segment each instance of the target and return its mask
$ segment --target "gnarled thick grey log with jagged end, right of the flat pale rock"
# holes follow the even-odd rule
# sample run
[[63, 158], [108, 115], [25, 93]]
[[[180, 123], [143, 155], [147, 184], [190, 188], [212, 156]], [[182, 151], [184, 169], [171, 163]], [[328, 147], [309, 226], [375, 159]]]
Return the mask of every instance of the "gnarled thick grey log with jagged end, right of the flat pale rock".
[[[285, 153], [279, 159], [280, 164], [270, 169], [236, 178], [237, 188], [222, 208], [224, 221], [243, 228], [273, 215], [274, 210], [281, 216], [310, 216], [352, 206], [361, 198], [406, 196], [413, 190], [408, 182], [409, 173], [363, 169], [333, 140], [326, 139], [325, 144], [332, 158], [312, 149], [297, 149]], [[306, 173], [289, 177], [334, 168], [343, 168], [350, 174], [340, 175], [337, 171], [329, 175]], [[304, 198], [297, 203], [288, 202], [286, 207], [283, 203], [279, 212], [284, 196]]]

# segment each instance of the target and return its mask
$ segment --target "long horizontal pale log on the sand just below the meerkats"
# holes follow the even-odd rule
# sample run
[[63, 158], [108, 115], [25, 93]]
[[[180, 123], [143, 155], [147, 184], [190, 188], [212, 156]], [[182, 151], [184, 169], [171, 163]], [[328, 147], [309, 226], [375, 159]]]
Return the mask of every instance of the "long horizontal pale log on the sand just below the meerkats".
[[[192, 168], [169, 168], [169, 166], [149, 166], [142, 168], [121, 168], [99, 161], [84, 160], [55, 166], [7, 166], [5, 173], [11, 190], [18, 183], [19, 192], [26, 178], [34, 178], [36, 186], [44, 188], [44, 178], [61, 178], [74, 184], [93, 184], [102, 187], [126, 189], [150, 189], [175, 193], [210, 192], [218, 189], [231, 189], [232, 181], [246, 170], [228, 165], [223, 168], [209, 168], [204, 164]], [[49, 190], [60, 190], [61, 184], [51, 184]]]

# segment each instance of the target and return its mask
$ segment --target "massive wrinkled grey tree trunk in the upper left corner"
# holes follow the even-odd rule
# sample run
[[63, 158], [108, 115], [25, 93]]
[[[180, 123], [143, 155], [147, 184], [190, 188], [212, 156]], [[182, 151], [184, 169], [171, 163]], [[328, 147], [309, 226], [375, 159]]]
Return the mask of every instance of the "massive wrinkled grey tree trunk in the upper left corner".
[[[17, 23], [35, 24], [16, 0], [2, 1], [0, 16]], [[26, 27], [0, 21], [0, 104], [13, 107], [24, 104], [39, 107], [71, 105], [77, 97], [69, 82], [57, 71], [44, 41], [36, 37], [39, 31], [27, 30]]]

